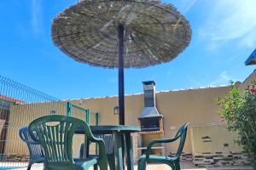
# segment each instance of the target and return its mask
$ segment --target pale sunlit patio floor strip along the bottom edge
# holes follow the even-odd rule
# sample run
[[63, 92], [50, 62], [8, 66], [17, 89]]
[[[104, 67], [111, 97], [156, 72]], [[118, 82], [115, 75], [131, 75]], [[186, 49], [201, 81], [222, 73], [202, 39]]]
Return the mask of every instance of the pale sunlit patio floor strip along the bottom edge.
[[[26, 170], [26, 163], [24, 162], [0, 162], [0, 170]], [[248, 166], [224, 166], [224, 167], [197, 167], [191, 161], [182, 161], [181, 167], [183, 170], [253, 170]], [[137, 166], [134, 167], [137, 170]], [[34, 164], [32, 170], [43, 170], [42, 164]], [[93, 170], [93, 168], [91, 168]], [[147, 170], [171, 170], [171, 167], [162, 164], [150, 164], [147, 166]]]

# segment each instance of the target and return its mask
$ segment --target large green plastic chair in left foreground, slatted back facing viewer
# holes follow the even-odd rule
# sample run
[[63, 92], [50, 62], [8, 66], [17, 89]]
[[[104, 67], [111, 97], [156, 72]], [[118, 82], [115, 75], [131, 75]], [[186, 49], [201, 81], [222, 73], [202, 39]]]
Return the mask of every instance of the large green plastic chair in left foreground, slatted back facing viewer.
[[[83, 127], [86, 138], [99, 145], [99, 156], [73, 159], [73, 135], [78, 127]], [[97, 166], [107, 170], [107, 151], [104, 141], [93, 136], [86, 122], [71, 116], [43, 116], [29, 125], [32, 139], [38, 136], [38, 142], [44, 148], [46, 170], [85, 170]]]

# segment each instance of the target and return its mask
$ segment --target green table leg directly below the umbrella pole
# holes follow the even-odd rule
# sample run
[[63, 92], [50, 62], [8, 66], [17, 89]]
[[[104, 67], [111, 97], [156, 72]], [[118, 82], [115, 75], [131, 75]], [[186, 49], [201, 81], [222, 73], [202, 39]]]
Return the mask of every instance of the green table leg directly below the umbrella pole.
[[123, 170], [122, 133], [113, 133], [115, 170]]

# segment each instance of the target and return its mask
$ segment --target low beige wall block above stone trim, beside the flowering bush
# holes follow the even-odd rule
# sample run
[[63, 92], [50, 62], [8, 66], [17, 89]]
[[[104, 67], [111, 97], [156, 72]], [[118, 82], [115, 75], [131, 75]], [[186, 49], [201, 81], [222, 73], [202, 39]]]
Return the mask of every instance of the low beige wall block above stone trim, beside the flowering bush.
[[[209, 137], [210, 140], [206, 141], [204, 137]], [[225, 125], [191, 127], [191, 139], [193, 155], [203, 152], [242, 151], [241, 147], [235, 143], [238, 135], [229, 132]]]

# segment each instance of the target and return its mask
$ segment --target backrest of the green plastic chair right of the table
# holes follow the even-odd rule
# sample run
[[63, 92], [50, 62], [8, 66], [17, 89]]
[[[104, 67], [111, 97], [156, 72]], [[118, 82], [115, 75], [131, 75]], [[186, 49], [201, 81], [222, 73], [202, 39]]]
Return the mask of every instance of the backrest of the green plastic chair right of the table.
[[177, 148], [176, 156], [179, 157], [182, 154], [183, 147], [186, 141], [187, 130], [188, 130], [189, 122], [185, 123], [182, 127], [177, 130], [174, 138], [180, 138], [179, 146]]

